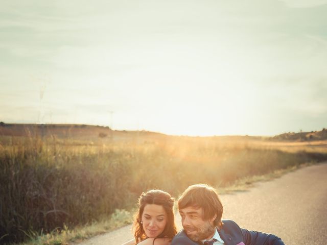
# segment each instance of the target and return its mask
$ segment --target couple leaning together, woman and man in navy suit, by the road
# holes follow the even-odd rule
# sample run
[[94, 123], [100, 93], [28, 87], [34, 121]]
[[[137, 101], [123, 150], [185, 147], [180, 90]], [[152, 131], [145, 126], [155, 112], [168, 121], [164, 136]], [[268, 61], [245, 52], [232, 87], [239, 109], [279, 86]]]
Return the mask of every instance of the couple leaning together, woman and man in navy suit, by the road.
[[281, 238], [240, 228], [222, 220], [223, 206], [209, 185], [189, 186], [177, 202], [182, 229], [177, 233], [174, 199], [162, 190], [142, 193], [138, 200], [133, 232], [135, 239], [123, 245], [284, 245]]

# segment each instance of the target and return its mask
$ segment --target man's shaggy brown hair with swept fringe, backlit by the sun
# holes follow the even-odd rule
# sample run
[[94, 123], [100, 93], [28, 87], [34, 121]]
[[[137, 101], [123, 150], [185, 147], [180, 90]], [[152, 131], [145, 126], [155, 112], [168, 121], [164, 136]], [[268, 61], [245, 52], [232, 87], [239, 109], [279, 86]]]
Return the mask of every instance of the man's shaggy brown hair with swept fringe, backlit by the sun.
[[196, 184], [189, 186], [178, 199], [178, 209], [186, 207], [203, 208], [203, 219], [209, 220], [215, 215], [214, 226], [219, 229], [223, 226], [221, 217], [223, 215], [223, 205], [214, 187], [206, 184]]

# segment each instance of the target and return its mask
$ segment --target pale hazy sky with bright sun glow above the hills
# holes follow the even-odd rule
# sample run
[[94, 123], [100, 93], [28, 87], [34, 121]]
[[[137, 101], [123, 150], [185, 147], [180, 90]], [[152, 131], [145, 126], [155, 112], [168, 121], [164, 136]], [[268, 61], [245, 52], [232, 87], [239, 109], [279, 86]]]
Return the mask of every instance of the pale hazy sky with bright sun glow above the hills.
[[327, 0], [0, 1], [0, 121], [327, 127]]

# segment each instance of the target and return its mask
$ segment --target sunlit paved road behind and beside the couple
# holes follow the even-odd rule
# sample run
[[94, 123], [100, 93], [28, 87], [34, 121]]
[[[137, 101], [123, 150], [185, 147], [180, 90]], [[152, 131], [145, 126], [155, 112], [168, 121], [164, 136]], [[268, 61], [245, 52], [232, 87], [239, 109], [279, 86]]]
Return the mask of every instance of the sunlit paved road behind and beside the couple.
[[[327, 164], [301, 168], [256, 184], [248, 191], [221, 195], [223, 218], [241, 227], [273, 233], [286, 244], [320, 245], [327, 241]], [[176, 217], [180, 227], [180, 217]], [[91, 238], [80, 245], [121, 245], [131, 227]]]

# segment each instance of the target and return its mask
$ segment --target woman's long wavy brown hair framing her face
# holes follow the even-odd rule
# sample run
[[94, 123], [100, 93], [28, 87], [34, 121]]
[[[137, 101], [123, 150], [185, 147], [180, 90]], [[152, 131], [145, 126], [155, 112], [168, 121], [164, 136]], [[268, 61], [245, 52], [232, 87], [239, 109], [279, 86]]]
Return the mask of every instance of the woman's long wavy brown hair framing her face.
[[172, 239], [177, 233], [173, 210], [174, 199], [168, 192], [162, 190], [149, 190], [147, 193], [142, 192], [140, 195], [138, 199], [138, 211], [134, 215], [133, 232], [136, 243], [147, 238], [141, 223], [143, 210], [147, 204], [160, 205], [164, 208], [167, 214], [167, 224], [165, 229], [159, 236], [157, 236], [157, 238], [168, 237]]

